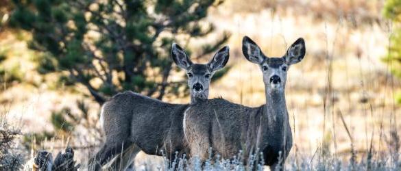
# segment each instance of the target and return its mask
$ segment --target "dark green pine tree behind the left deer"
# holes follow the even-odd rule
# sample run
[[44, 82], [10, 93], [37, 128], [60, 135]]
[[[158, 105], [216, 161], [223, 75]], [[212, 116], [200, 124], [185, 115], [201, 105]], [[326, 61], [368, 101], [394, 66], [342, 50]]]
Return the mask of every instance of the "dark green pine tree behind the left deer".
[[[98, 103], [123, 90], [145, 95], [179, 94], [185, 83], [167, 82], [172, 67], [171, 43], [187, 44], [208, 36], [215, 27], [204, 21], [215, 0], [13, 1], [11, 27], [33, 35], [29, 49], [44, 52], [41, 74], [69, 73], [69, 84], [81, 83]], [[199, 57], [216, 51], [229, 38], [199, 44]], [[151, 72], [149, 72], [151, 70]], [[97, 81], [93, 81], [97, 80]], [[98, 80], [101, 80], [99, 83]], [[53, 120], [62, 118], [54, 115]]]

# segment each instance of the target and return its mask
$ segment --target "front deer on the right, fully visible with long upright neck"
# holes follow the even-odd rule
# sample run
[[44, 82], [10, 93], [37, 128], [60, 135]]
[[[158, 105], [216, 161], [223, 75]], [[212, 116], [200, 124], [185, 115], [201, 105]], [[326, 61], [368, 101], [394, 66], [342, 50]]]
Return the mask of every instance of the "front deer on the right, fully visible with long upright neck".
[[[184, 114], [184, 135], [191, 156], [208, 159], [208, 148], [224, 158], [243, 150], [243, 159], [263, 152], [265, 165], [272, 170], [284, 166], [292, 146], [291, 127], [285, 103], [284, 88], [289, 66], [305, 55], [302, 38], [296, 40], [283, 57], [267, 57], [250, 38], [243, 38], [243, 55], [258, 64], [265, 83], [266, 104], [246, 107], [214, 98], [191, 105]], [[281, 153], [281, 162], [278, 162]], [[245, 161], [246, 162], [246, 161]]]

